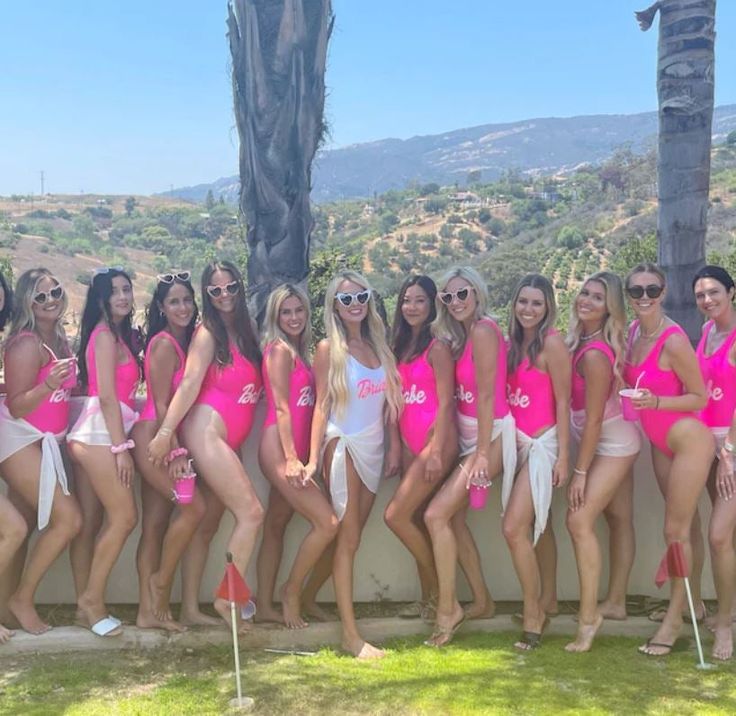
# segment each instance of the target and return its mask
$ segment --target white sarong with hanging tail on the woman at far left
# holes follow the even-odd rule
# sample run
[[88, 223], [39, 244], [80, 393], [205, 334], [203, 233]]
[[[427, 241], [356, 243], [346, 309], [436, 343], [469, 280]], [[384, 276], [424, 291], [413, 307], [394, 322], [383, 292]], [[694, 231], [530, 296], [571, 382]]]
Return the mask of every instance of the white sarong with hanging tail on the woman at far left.
[[0, 403], [0, 462], [14, 455], [28, 445], [41, 441], [41, 473], [38, 480], [38, 529], [48, 525], [51, 507], [54, 504], [56, 483], [61, 491], [69, 494], [69, 484], [61, 459], [59, 440], [64, 434], [41, 432], [23, 418], [14, 418], [3, 400]]

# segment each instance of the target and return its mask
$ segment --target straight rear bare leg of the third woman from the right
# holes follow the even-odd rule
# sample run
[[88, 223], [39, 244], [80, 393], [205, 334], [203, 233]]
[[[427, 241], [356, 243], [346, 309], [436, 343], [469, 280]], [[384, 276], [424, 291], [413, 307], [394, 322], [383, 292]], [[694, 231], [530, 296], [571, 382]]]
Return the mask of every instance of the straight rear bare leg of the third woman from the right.
[[636, 554], [633, 478], [632, 466], [603, 510], [608, 524], [608, 593], [598, 611], [604, 619], [626, 619], [626, 593]]

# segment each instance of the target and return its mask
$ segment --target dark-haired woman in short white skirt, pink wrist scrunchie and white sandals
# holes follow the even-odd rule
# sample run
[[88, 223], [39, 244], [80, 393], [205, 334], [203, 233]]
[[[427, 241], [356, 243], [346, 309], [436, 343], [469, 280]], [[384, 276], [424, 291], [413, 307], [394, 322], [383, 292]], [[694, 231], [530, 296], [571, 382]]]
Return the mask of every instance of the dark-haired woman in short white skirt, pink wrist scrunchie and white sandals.
[[128, 439], [138, 417], [134, 408], [140, 378], [133, 312], [128, 274], [120, 268], [98, 269], [80, 328], [79, 377], [87, 397], [66, 438], [82, 507], [82, 530], [70, 549], [77, 620], [98, 636], [122, 633], [120, 620], [105, 606], [105, 588], [138, 521], [131, 489], [133, 443]]

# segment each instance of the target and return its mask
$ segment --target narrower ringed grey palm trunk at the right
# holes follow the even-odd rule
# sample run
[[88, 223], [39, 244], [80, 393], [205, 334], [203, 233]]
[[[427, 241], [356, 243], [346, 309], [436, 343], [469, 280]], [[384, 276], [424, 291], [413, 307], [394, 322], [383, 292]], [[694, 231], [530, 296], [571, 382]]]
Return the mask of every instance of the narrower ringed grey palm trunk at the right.
[[667, 273], [667, 312], [695, 340], [700, 319], [690, 281], [705, 261], [716, 0], [659, 0], [636, 13], [642, 30], [657, 11], [658, 256]]

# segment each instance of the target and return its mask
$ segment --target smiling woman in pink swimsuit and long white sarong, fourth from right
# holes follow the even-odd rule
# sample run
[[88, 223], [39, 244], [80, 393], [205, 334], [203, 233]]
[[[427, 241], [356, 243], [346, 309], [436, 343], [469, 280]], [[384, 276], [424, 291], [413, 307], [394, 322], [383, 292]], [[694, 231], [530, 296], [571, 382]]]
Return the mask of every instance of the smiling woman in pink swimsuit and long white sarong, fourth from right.
[[[524, 598], [517, 649], [539, 646], [557, 608], [557, 551], [549, 521], [552, 491], [568, 478], [570, 355], [554, 330], [554, 290], [539, 274], [519, 281], [509, 321], [508, 394], [521, 469], [504, 480], [503, 534]], [[513, 483], [513, 484], [512, 484]]]

